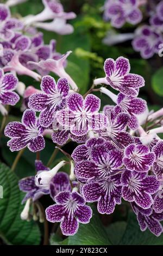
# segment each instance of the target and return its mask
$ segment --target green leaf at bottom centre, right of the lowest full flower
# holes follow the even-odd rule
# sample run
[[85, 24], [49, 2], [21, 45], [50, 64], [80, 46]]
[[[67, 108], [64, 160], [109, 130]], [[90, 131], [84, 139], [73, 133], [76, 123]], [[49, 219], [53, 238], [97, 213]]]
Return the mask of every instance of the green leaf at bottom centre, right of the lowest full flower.
[[68, 237], [68, 245], [110, 245], [107, 233], [93, 207], [93, 216], [88, 224], [79, 224], [77, 234]]

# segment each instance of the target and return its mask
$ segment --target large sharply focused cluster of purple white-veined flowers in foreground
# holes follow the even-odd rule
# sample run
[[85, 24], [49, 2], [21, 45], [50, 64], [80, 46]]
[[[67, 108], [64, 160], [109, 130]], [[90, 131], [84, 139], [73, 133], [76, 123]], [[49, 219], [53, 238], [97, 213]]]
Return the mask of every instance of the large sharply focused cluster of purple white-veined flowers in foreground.
[[[126, 200], [141, 230], [148, 228], [158, 236], [163, 231], [163, 145], [157, 133], [163, 129], [156, 127], [147, 132], [141, 124], [159, 118], [162, 111], [148, 113], [146, 101], [137, 97], [145, 81], [129, 73], [128, 59], [106, 59], [104, 71], [105, 77], [97, 78], [94, 84], [104, 83], [119, 92], [116, 95], [99, 87], [116, 104], [105, 106], [104, 113], [99, 112], [101, 101], [97, 96], [83, 97], [70, 90], [66, 78], [55, 83], [52, 76], [46, 75], [41, 90], [30, 88], [32, 93], [27, 93], [28, 109], [22, 123], [12, 122], [5, 127], [11, 151], [25, 147], [40, 151], [47, 134], [58, 145], [68, 139], [80, 144], [69, 156], [70, 176], [57, 173], [65, 161], [51, 170], [36, 161], [35, 178], [20, 181], [20, 189], [27, 193], [21, 216], [28, 218], [31, 202], [50, 194], [55, 204], [46, 209], [47, 220], [61, 222], [62, 233], [73, 235], [79, 223], [90, 221], [92, 210], [86, 203], [97, 202], [99, 213], [112, 214], [116, 204]], [[38, 118], [35, 112], [40, 112]]]

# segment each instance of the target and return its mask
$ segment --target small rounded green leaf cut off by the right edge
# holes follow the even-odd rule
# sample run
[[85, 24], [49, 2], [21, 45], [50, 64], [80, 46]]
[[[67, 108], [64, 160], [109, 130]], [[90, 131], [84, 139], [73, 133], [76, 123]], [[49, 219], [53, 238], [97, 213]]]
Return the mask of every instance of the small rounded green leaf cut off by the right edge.
[[152, 76], [152, 88], [156, 94], [163, 96], [163, 68]]

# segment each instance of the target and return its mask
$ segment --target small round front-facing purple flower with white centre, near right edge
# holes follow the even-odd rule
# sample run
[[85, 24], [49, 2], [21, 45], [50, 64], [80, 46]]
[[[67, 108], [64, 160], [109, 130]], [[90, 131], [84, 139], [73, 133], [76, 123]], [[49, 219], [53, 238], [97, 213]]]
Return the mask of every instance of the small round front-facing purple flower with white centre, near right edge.
[[148, 172], [155, 161], [155, 154], [146, 145], [130, 144], [124, 150], [123, 163], [128, 170]]

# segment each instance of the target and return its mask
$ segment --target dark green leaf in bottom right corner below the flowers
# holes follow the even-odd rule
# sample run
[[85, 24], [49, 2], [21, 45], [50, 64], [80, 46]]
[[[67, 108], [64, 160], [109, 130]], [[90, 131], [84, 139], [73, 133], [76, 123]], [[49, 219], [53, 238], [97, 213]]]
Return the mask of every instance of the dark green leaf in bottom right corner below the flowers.
[[141, 231], [136, 215], [133, 212], [129, 213], [126, 225], [122, 222], [115, 222], [109, 227], [108, 236], [113, 245], [117, 244], [116, 236], [117, 240], [119, 240], [120, 236], [122, 237], [118, 241], [118, 245], [163, 245], [163, 234], [157, 237], [148, 229]]

